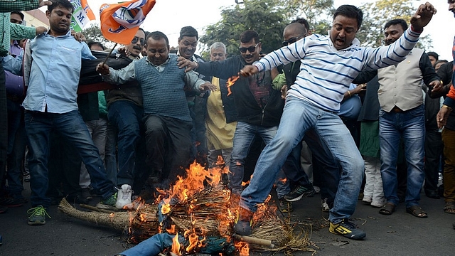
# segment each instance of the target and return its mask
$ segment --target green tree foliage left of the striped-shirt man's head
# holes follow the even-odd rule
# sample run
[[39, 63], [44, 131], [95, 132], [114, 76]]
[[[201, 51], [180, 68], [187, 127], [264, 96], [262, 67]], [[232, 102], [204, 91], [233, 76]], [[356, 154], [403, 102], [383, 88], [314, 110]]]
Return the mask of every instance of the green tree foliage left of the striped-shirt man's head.
[[[333, 12], [333, 0], [245, 0], [221, 11], [221, 20], [205, 30], [200, 37], [205, 52], [212, 43], [225, 43], [228, 55], [239, 53], [240, 33], [252, 29], [259, 33], [262, 52], [269, 53], [281, 47], [283, 30], [296, 17], [304, 17], [311, 29], [326, 34], [328, 18]], [[331, 18], [330, 18], [331, 19]], [[206, 55], [207, 53], [202, 53]]]

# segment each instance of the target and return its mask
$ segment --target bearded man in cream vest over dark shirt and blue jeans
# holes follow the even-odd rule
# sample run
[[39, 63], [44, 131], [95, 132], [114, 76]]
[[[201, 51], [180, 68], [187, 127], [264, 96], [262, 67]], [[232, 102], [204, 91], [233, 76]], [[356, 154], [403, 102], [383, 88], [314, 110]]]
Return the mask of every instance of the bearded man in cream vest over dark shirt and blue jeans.
[[[407, 23], [401, 18], [385, 23], [385, 45], [390, 46], [400, 39], [406, 29]], [[400, 203], [397, 196], [397, 156], [400, 139], [403, 138], [407, 162], [406, 211], [417, 218], [427, 218], [427, 213], [419, 206], [420, 189], [425, 178], [422, 81], [428, 87], [439, 87], [439, 77], [428, 55], [419, 48], [413, 48], [401, 63], [369, 75], [374, 77], [376, 74], [379, 81], [381, 176], [386, 201], [379, 213], [391, 215]]]

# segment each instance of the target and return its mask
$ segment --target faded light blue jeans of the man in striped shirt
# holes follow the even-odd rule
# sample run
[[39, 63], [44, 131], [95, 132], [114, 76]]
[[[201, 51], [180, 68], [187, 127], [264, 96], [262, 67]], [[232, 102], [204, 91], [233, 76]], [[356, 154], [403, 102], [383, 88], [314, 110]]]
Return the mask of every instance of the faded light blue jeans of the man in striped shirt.
[[296, 97], [287, 97], [277, 135], [265, 146], [250, 186], [242, 192], [242, 207], [256, 211], [257, 204], [264, 202], [287, 155], [311, 128], [343, 169], [329, 219], [332, 223], [339, 223], [353, 215], [364, 170], [363, 159], [353, 137], [338, 114], [321, 110]]

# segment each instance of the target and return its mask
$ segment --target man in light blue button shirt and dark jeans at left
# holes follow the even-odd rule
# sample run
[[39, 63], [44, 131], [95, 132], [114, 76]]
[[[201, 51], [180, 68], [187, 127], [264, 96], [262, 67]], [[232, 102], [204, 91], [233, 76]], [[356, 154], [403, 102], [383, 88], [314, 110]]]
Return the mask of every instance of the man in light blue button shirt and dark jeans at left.
[[[46, 16], [50, 28], [37, 36], [26, 50], [24, 78], [28, 82], [25, 108], [26, 133], [29, 140], [31, 205], [28, 225], [44, 225], [50, 199], [48, 189], [48, 156], [50, 133], [57, 131], [77, 148], [87, 167], [92, 186], [102, 195], [103, 206], [114, 206], [114, 186], [106, 177], [98, 149], [77, 110], [77, 84], [81, 59], [95, 59], [86, 43], [71, 36], [73, 6], [66, 0], [52, 0]], [[31, 65], [33, 61], [33, 65]], [[26, 84], [27, 85], [27, 84]]]

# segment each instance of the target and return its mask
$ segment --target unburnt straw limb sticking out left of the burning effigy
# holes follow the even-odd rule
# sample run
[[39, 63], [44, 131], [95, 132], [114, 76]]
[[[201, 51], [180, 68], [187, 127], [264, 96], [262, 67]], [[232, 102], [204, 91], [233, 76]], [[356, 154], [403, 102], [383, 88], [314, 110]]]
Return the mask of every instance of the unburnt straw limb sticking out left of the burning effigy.
[[124, 230], [129, 222], [129, 213], [97, 213], [77, 210], [66, 201], [65, 198], [58, 205], [58, 210], [61, 210], [66, 215], [69, 215], [80, 220], [87, 220], [90, 223], [97, 225], [105, 225], [114, 228], [115, 230]]

